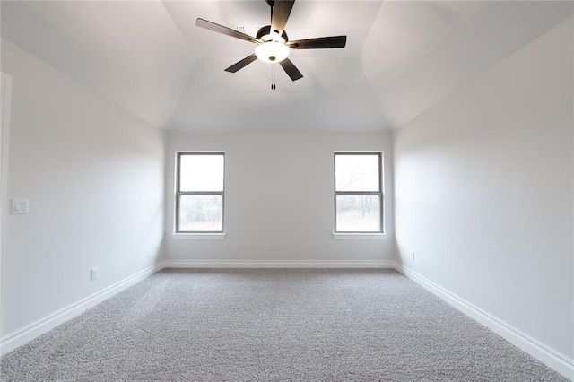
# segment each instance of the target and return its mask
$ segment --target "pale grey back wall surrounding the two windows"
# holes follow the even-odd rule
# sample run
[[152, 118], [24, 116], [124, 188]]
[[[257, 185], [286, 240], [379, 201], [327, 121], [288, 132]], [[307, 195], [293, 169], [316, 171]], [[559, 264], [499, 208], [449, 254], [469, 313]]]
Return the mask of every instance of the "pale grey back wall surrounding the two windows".
[[[277, 120], [281, 124], [281, 120]], [[224, 240], [175, 240], [175, 156], [178, 151], [225, 152]], [[270, 266], [317, 262], [377, 263], [393, 259], [392, 240], [335, 240], [335, 151], [385, 155], [385, 219], [392, 238], [392, 153], [387, 133], [170, 132], [166, 167], [168, 260], [267, 262]], [[272, 250], [266, 251], [270, 243]], [[242, 263], [243, 262], [243, 263]], [[189, 264], [189, 263], [188, 263]]]

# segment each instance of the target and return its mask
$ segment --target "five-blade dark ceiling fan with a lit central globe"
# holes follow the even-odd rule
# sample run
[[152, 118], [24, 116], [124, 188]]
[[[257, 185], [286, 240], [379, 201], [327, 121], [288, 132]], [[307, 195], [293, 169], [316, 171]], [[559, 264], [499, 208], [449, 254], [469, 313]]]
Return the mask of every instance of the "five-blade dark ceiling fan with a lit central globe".
[[[239, 30], [232, 30], [215, 22], [198, 18], [196, 25], [206, 30], [213, 30], [236, 39], [243, 39], [257, 44], [255, 53], [231, 65], [226, 72], [235, 73], [239, 69], [260, 59], [266, 63], [279, 63], [292, 81], [303, 77], [299, 69], [288, 58], [290, 49], [326, 49], [344, 48], [347, 36], [320, 37], [316, 39], [298, 39], [290, 41], [285, 32], [285, 24], [295, 0], [266, 0], [271, 7], [271, 25], [265, 25], [257, 31], [257, 37], [249, 36]], [[272, 85], [273, 86], [273, 85]]]

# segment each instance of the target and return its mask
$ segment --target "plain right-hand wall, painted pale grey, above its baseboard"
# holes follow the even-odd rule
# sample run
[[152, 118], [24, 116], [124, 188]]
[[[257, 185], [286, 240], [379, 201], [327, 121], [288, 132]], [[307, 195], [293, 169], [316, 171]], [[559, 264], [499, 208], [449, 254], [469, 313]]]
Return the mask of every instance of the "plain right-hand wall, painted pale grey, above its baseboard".
[[570, 18], [394, 138], [397, 261], [570, 362], [572, 56]]

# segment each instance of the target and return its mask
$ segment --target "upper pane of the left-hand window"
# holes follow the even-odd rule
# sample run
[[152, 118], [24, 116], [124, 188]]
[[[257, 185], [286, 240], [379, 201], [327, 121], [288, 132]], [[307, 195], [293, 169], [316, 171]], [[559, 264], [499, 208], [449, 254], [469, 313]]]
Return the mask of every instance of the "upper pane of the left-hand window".
[[224, 155], [181, 155], [179, 191], [223, 191]]

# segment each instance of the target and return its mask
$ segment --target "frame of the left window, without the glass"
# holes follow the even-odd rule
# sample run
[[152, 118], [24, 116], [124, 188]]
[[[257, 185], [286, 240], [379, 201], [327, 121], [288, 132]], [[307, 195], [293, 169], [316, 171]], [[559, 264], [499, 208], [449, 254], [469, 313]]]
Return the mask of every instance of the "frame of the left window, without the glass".
[[[222, 155], [223, 157], [223, 190], [222, 191], [181, 191], [181, 157], [186, 155]], [[175, 184], [175, 235], [209, 236], [225, 232], [225, 152], [176, 152], [176, 184]], [[222, 196], [222, 230], [179, 230], [179, 204], [182, 195], [221, 195]]]

